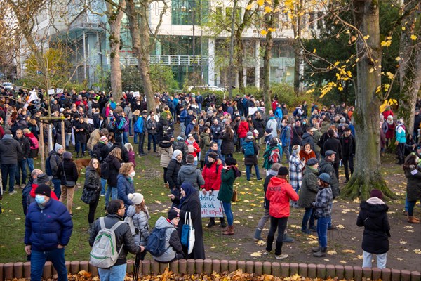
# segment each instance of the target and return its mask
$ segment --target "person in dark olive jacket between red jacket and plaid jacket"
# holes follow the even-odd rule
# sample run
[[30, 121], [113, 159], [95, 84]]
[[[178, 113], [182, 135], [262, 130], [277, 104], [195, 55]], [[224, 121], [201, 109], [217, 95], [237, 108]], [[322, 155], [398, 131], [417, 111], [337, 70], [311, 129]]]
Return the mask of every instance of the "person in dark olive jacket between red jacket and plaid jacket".
[[[316, 158], [310, 158], [304, 169], [304, 176], [302, 177], [302, 185], [300, 191], [300, 199], [297, 204], [299, 207], [305, 208], [304, 216], [302, 217], [301, 231], [310, 234], [316, 231], [314, 226], [313, 206], [312, 202], [316, 199], [317, 192], [319, 191], [318, 176], [319, 161]], [[307, 223], [310, 221], [309, 228]]]

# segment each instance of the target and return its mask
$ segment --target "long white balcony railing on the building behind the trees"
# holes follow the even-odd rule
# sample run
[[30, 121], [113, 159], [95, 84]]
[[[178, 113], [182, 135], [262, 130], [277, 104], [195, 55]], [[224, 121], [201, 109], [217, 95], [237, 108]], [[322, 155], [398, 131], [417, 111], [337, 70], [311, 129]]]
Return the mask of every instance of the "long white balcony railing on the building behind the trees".
[[[109, 56], [107, 56], [109, 60]], [[151, 65], [208, 65], [207, 55], [149, 55]], [[138, 59], [133, 54], [120, 54], [120, 63], [123, 65], [137, 65]]]

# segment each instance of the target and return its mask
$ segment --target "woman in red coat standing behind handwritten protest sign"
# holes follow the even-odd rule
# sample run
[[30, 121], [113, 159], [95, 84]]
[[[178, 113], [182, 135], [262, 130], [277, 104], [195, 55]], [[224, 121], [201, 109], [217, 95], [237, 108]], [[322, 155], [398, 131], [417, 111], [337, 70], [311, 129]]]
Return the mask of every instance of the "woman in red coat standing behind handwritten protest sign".
[[[208, 154], [208, 163], [204, 166], [202, 171], [203, 179], [205, 184], [202, 185], [202, 192], [206, 195], [207, 192], [212, 194], [214, 190], [220, 190], [221, 187], [221, 173], [222, 173], [222, 162], [218, 159], [218, 154], [215, 152], [210, 152]], [[210, 218], [208, 223], [208, 228], [215, 226], [215, 218]], [[225, 228], [227, 223], [225, 223], [225, 218], [221, 218], [221, 227]]]

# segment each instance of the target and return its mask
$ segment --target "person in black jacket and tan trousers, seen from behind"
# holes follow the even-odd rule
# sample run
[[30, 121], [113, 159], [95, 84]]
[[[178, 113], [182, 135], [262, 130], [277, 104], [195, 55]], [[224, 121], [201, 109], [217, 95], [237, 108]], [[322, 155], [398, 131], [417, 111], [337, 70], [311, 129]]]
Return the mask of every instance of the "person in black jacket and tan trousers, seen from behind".
[[57, 174], [61, 182], [60, 202], [64, 204], [67, 200], [67, 211], [69, 211], [70, 216], [73, 216], [74, 185], [76, 185], [79, 173], [77, 172], [76, 164], [73, 162], [72, 153], [68, 151], [63, 153], [63, 161], [58, 165]]

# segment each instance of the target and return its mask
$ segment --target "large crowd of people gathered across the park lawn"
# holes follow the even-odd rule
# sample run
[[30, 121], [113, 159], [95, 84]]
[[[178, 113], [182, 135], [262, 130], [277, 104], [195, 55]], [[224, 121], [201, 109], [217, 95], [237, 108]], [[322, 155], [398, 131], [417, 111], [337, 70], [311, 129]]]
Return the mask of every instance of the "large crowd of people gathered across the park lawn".
[[[112, 266], [100, 268], [101, 280], [123, 280], [128, 252], [145, 258], [147, 241], [154, 233], [149, 227], [145, 198], [135, 192], [135, 159], [151, 153], [159, 155], [163, 185], [171, 192], [171, 209], [154, 227], [163, 230], [166, 243], [165, 251], [152, 255], [156, 261], [205, 259], [201, 193], [218, 192], [217, 199], [224, 210], [219, 217], [220, 226], [226, 228], [222, 234], [235, 234], [231, 202], [234, 181], [241, 176], [234, 158], [234, 153], [239, 152], [243, 154], [246, 180], [265, 180], [264, 213], [253, 236], [255, 240], [264, 240], [262, 230], [270, 221], [265, 254], [272, 254], [277, 231], [274, 257], [288, 257], [282, 247], [284, 242], [293, 242], [286, 235], [290, 208], [301, 207], [305, 208], [302, 233], [316, 232], [319, 246], [312, 249], [313, 254], [326, 256], [328, 230], [337, 229], [331, 214], [333, 199], [340, 195], [340, 166], [345, 169], [345, 183], [354, 172], [358, 141], [352, 124], [354, 107], [345, 103], [319, 107], [304, 102], [289, 110], [275, 96], [272, 110], [266, 114], [265, 103], [253, 96], [237, 95], [232, 100], [219, 101], [213, 95], [203, 98], [199, 93], [157, 93], [156, 110], [148, 112], [145, 99], [135, 97], [133, 92], [123, 93], [121, 100], [95, 91], [64, 91], [48, 100], [37, 93], [37, 99], [26, 103], [30, 94], [25, 90], [10, 93], [1, 89], [0, 122], [5, 129], [0, 129], [0, 159], [1, 196], [7, 186], [9, 195], [16, 193], [15, 188], [23, 188], [25, 251], [33, 263], [32, 280], [39, 280], [46, 259], [53, 262], [59, 280], [65, 280], [63, 248], [72, 233], [74, 187], [79, 178], [73, 154], [68, 151], [71, 145], [76, 158], [91, 157], [82, 195], [83, 202], [89, 205], [91, 247], [95, 248], [102, 230], [113, 228], [123, 219], [133, 222], [119, 223], [113, 229], [118, 259]], [[41, 171], [34, 169], [33, 162], [38, 155], [39, 130], [46, 130], [41, 126], [41, 116], [46, 116], [48, 110], [51, 116], [65, 118], [65, 131], [60, 122], [53, 121], [54, 146], [46, 159], [46, 171]], [[420, 223], [413, 216], [414, 206], [421, 199], [419, 110], [415, 110], [413, 133], [406, 133], [402, 119], [394, 121], [390, 108], [381, 116], [382, 152], [396, 139], [398, 163], [403, 164], [408, 179], [405, 206], [408, 222]], [[180, 124], [178, 136], [174, 135], [175, 124]], [[138, 156], [129, 142], [130, 136], [138, 144]], [[47, 139], [42, 141], [47, 143]], [[101, 196], [105, 197], [107, 216], [95, 220]], [[371, 265], [373, 254], [377, 254], [377, 267], [386, 266], [390, 228], [386, 211], [380, 190], [372, 190], [371, 198], [361, 202], [356, 224], [365, 228], [362, 246], [365, 266]], [[46, 215], [52, 219], [44, 225]], [[209, 218], [207, 228], [216, 226], [215, 218]], [[183, 243], [187, 219], [192, 220], [195, 230], [192, 249]], [[46, 231], [41, 231], [41, 227]], [[61, 235], [54, 235], [53, 239], [48, 234], [53, 232]]]

